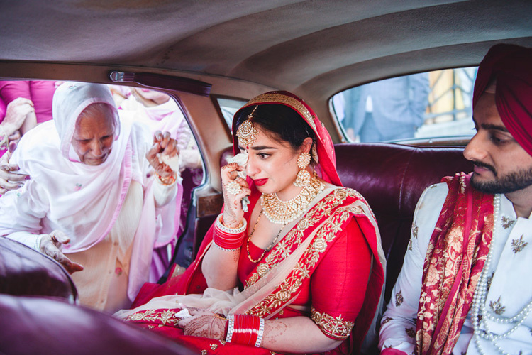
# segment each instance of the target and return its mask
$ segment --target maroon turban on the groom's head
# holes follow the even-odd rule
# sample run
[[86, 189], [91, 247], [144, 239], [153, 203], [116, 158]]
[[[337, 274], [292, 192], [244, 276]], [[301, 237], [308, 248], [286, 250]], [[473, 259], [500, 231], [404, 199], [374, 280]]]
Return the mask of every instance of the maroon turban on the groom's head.
[[502, 123], [532, 155], [532, 48], [498, 44], [489, 49], [478, 68], [473, 108], [493, 78]]

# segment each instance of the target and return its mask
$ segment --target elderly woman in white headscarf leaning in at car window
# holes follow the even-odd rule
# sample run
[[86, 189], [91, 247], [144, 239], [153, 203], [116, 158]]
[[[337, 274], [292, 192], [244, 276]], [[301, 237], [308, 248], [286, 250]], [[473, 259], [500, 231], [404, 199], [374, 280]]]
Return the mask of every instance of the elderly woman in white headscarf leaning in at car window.
[[101, 84], [62, 84], [53, 118], [11, 157], [31, 179], [0, 198], [0, 235], [65, 266], [82, 304], [128, 307], [148, 280], [154, 246], [170, 241], [157, 237], [161, 221], [174, 220], [179, 183], [162, 162], [177, 158], [176, 141], [119, 119]]

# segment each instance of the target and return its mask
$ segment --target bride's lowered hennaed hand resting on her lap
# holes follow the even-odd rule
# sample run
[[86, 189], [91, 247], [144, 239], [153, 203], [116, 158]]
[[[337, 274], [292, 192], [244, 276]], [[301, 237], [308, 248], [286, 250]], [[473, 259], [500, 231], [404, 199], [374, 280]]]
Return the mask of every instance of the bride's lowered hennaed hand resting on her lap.
[[226, 339], [227, 320], [208, 310], [189, 308], [191, 317], [178, 318], [177, 327], [183, 329], [184, 335], [204, 337], [216, 340]]

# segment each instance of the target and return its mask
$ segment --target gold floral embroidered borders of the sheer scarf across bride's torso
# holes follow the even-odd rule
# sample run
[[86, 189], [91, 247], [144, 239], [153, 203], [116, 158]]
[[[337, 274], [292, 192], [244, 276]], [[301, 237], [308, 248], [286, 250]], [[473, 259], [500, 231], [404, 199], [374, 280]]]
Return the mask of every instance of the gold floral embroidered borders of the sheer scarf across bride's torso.
[[[255, 307], [247, 312], [248, 314], [257, 315], [259, 317], [265, 317], [266, 315], [271, 314], [275, 309], [282, 306], [284, 302], [287, 302], [293, 297], [294, 293], [296, 293], [303, 284], [303, 280], [305, 278], [310, 278], [311, 270], [316, 266], [316, 263], [320, 257], [320, 253], [326, 251], [327, 245], [333, 241], [336, 236], [338, 236], [338, 232], [342, 230], [343, 222], [347, 221], [353, 213], [364, 214], [363, 209], [358, 206], [349, 205], [346, 207], [336, 208], [348, 196], [357, 197], [355, 194], [358, 194], [358, 192], [355, 192], [355, 190], [346, 189], [343, 187], [338, 188], [326, 196], [321, 202], [318, 202], [318, 204], [323, 204], [323, 206], [318, 207], [318, 204], [316, 204], [316, 214], [323, 215], [326, 213], [329, 216], [328, 219], [317, 231], [314, 241], [309, 244], [303, 256], [301, 256], [301, 259], [294, 267], [294, 270], [292, 270], [288, 277], [281, 283], [281, 285], [279, 285], [276, 291], [255, 305]], [[335, 210], [333, 211], [333, 209]], [[305, 217], [307, 220], [309, 220], [309, 226], [320, 220], [318, 217], [312, 214], [312, 210], [311, 212], [307, 213], [307, 215], [310, 215], [310, 217]], [[309, 226], [307, 226], [307, 228]], [[297, 228], [294, 230], [297, 230]], [[299, 231], [298, 233], [301, 234], [301, 236], [303, 235], [303, 231]], [[282, 246], [279, 250], [275, 250], [277, 253], [272, 254], [275, 254], [275, 256], [278, 257], [284, 256], [284, 251], [287, 251], [287, 248], [285, 249], [285, 247]], [[267, 259], [264, 263], [261, 263], [259, 266], [257, 266], [257, 271], [262, 270], [262, 268], [270, 270], [272, 267], [272, 264], [270, 263], [275, 256]], [[252, 278], [248, 280], [248, 285], [250, 285], [250, 282], [252, 281], [256, 282], [256, 280], [258, 280], [260, 277], [262, 277], [262, 275], [252, 275]]]

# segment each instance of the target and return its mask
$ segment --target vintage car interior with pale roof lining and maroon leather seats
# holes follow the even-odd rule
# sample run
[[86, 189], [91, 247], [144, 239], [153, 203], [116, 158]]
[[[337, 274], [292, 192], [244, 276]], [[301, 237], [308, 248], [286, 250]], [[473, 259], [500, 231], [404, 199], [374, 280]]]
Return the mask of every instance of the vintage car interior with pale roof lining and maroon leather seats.
[[[183, 267], [223, 204], [232, 113], [264, 92], [297, 94], [331, 134], [343, 185], [375, 212], [386, 303], [417, 200], [444, 176], [471, 171], [462, 151], [472, 132], [362, 143], [348, 136], [333, 98], [391, 77], [475, 67], [496, 43], [532, 47], [530, 13], [528, 0], [4, 1], [0, 78], [157, 89], [177, 102], [203, 168], [184, 193], [186, 222], [172, 255]], [[0, 353], [192, 354], [78, 303], [59, 263], [0, 237]]]

